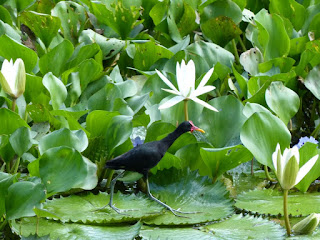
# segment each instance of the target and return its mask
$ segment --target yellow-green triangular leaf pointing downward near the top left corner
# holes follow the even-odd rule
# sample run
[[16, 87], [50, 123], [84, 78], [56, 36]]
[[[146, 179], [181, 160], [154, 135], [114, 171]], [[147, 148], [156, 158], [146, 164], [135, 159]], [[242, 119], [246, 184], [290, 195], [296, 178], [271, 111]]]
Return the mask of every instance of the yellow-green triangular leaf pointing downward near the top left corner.
[[20, 15], [20, 21], [41, 39], [48, 48], [61, 26], [60, 19], [48, 14], [28, 11]]

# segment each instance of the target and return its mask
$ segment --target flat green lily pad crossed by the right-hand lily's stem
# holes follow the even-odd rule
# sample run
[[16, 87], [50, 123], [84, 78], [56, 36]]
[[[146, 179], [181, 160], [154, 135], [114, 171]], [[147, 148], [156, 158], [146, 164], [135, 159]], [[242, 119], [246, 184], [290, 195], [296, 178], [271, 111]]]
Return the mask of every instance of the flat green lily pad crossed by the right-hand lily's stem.
[[[288, 213], [307, 216], [320, 212], [320, 193], [292, 193], [288, 196]], [[277, 190], [254, 190], [240, 194], [235, 206], [259, 214], [283, 214], [283, 193]]]

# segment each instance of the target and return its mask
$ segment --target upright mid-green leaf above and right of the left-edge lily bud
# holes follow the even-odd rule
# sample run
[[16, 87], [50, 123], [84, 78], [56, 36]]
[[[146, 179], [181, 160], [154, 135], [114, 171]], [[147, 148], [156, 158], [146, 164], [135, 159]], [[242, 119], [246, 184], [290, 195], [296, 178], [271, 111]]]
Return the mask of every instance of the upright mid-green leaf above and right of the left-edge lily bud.
[[63, 40], [59, 45], [43, 55], [39, 60], [39, 67], [42, 74], [52, 72], [59, 77], [65, 68], [65, 64], [72, 56], [73, 45], [68, 40]]

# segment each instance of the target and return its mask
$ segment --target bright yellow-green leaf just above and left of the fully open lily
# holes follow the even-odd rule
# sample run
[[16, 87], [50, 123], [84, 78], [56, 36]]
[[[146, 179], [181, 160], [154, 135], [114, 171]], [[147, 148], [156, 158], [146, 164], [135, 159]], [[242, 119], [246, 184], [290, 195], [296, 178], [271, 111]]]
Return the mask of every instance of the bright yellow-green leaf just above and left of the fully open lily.
[[139, 70], [149, 70], [159, 59], [170, 59], [173, 53], [155, 42], [136, 43], [136, 53], [133, 59], [134, 67]]

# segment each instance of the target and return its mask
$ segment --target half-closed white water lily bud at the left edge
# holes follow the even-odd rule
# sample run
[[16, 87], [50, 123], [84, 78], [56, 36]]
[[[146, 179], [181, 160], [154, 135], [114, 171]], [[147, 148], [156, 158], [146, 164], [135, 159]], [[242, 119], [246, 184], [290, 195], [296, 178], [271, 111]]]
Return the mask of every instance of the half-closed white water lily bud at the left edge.
[[23, 60], [18, 58], [14, 63], [5, 59], [0, 72], [2, 88], [13, 98], [18, 98], [24, 93], [26, 85], [26, 70]]

